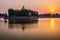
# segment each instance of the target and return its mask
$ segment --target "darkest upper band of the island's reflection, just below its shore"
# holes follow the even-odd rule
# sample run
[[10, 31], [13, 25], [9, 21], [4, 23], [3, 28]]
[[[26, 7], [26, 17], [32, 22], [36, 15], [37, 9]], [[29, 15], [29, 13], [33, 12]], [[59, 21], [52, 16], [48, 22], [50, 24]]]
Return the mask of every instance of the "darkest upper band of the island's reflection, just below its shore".
[[9, 24], [32, 24], [32, 23], [37, 23], [38, 22], [38, 19], [37, 20], [30, 20], [30, 19], [9, 19]]

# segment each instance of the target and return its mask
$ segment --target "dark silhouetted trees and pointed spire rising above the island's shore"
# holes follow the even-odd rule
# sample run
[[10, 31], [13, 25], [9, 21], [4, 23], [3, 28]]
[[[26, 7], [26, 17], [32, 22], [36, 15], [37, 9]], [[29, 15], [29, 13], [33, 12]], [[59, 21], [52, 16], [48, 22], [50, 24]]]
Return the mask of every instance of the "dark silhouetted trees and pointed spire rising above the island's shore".
[[23, 6], [21, 10], [8, 9], [9, 16], [38, 16], [37, 11], [25, 9]]

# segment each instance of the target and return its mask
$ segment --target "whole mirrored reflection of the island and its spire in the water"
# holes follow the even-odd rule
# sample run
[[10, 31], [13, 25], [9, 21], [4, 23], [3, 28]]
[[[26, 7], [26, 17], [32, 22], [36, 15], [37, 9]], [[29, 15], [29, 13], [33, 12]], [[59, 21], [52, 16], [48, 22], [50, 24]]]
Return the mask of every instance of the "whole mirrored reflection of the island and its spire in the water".
[[31, 29], [34, 26], [30, 26], [32, 24], [37, 24], [38, 20], [8, 20], [8, 28], [14, 29], [14, 28], [21, 28], [23, 31], [25, 29]]

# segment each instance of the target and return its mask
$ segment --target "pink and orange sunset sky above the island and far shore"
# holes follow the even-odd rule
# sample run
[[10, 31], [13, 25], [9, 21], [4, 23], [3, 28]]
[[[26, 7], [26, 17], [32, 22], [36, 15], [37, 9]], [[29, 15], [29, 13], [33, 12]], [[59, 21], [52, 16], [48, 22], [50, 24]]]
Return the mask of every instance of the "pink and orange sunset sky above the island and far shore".
[[60, 0], [0, 0], [0, 12], [7, 12], [9, 8], [21, 9], [22, 6], [39, 13], [47, 13], [51, 9], [60, 13]]

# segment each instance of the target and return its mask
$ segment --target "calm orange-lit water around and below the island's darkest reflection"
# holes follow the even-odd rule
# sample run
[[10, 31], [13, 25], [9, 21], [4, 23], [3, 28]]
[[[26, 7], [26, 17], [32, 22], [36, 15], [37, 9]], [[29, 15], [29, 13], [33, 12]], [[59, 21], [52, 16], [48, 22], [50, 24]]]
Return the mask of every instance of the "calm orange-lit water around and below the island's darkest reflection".
[[9, 24], [0, 19], [0, 39], [38, 40], [60, 39], [60, 19], [40, 18], [38, 22], [27, 24]]

